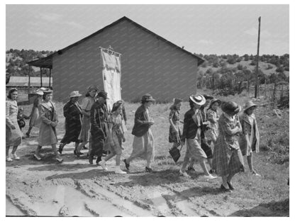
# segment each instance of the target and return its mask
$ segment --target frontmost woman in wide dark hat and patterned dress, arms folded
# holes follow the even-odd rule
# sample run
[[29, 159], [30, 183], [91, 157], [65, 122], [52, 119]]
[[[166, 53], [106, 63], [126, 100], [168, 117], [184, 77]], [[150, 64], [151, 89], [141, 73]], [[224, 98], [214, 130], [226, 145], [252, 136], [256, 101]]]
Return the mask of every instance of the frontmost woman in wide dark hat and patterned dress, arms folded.
[[213, 153], [213, 169], [222, 177], [221, 191], [232, 191], [231, 179], [240, 171], [245, 171], [243, 156], [238, 143], [242, 126], [238, 118], [240, 106], [233, 101], [221, 104], [223, 113], [218, 120], [219, 135]]

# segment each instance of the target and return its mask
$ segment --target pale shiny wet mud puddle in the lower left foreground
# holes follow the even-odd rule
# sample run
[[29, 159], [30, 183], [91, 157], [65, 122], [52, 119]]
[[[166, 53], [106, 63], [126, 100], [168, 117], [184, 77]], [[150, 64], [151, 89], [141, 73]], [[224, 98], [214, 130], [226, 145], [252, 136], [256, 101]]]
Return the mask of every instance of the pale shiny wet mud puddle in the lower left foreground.
[[[144, 210], [134, 203], [120, 198], [115, 193], [97, 188], [97, 193], [106, 196], [108, 200], [89, 198], [72, 186], [46, 186], [35, 193], [39, 193], [31, 200], [26, 198], [22, 204], [27, 209], [35, 211], [37, 216], [82, 216], [82, 217], [131, 217], [153, 216], [149, 210]], [[40, 200], [36, 200], [36, 198]], [[25, 215], [6, 198], [6, 215]]]

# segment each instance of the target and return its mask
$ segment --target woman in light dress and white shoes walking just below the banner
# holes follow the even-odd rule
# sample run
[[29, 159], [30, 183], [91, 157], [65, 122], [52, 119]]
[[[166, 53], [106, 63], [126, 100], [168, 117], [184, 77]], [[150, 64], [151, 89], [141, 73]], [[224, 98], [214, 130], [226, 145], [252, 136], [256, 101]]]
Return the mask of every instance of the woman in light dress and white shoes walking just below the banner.
[[100, 164], [104, 164], [104, 168], [106, 169], [106, 162], [108, 159], [116, 156], [116, 174], [126, 174], [126, 171], [122, 171], [120, 168], [121, 162], [121, 154], [122, 154], [122, 142], [125, 142], [124, 131], [122, 128], [122, 101], [117, 101], [113, 103], [113, 108], [111, 110], [111, 116], [108, 120], [108, 138], [106, 139], [106, 143], [108, 145], [105, 146], [106, 151], [110, 151], [111, 154], [105, 159], [102, 159]]

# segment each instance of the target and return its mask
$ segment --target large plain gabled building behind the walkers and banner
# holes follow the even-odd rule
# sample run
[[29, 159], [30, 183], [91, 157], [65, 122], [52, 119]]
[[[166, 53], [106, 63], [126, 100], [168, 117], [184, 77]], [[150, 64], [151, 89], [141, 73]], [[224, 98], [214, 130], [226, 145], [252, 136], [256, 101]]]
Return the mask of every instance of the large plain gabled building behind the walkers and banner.
[[28, 64], [52, 69], [54, 99], [66, 101], [71, 91], [85, 94], [89, 85], [104, 89], [99, 47], [109, 45], [121, 53], [123, 100], [139, 101], [149, 93], [157, 101], [172, 101], [196, 93], [197, 67], [204, 60], [125, 16]]

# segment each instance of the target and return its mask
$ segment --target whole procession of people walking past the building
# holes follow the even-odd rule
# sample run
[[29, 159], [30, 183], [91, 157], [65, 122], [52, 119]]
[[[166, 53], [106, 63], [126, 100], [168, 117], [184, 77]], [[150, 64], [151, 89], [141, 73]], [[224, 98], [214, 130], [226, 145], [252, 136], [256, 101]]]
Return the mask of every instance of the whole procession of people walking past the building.
[[[152, 125], [155, 121], [151, 118], [150, 106], [155, 103], [155, 99], [150, 94], [142, 96], [141, 104], [135, 111], [131, 132], [134, 135], [132, 152], [129, 157], [122, 160], [122, 143], [126, 142], [124, 127], [127, 120], [123, 101], [114, 102], [113, 108], [108, 110], [106, 106], [108, 94], [99, 91], [96, 86], [87, 88], [87, 94], [81, 103], [78, 99], [82, 94], [79, 94], [79, 91], [72, 91], [69, 94], [69, 101], [63, 108], [65, 135], [57, 149], [56, 128], [59, 121], [55, 104], [52, 103], [52, 93], [50, 89], [38, 89], [32, 111], [26, 116], [16, 103], [18, 90], [9, 91], [6, 101], [6, 162], [20, 159], [16, 150], [22, 142], [21, 128], [26, 125], [24, 119], [30, 118], [26, 136], [30, 137], [33, 127], [39, 128], [38, 146], [33, 154], [38, 161], [43, 158], [40, 154], [43, 146], [50, 145], [55, 160], [62, 163], [62, 152], [67, 144], [74, 142], [74, 154], [80, 157], [83, 154], [81, 149], [87, 148], [85, 145], [89, 143], [89, 164], [93, 164], [96, 159], [96, 165], [105, 171], [108, 170], [106, 162], [113, 157], [116, 158], [116, 174], [127, 173], [121, 169], [121, 162], [129, 171], [133, 159], [138, 157], [145, 159], [144, 170], [147, 173], [154, 171], [152, 162], [155, 159], [155, 140], [152, 135]], [[207, 180], [221, 176], [221, 191], [233, 191], [233, 176], [245, 171], [243, 155], [247, 156], [250, 172], [260, 176], [252, 163], [252, 154], [259, 152], [260, 141], [254, 114], [257, 108], [255, 103], [252, 101], [245, 103], [242, 113], [241, 107], [233, 101], [222, 102], [205, 94], [191, 95], [188, 99], [190, 108], [184, 114], [184, 120], [181, 120], [179, 111], [183, 101], [182, 98], [174, 98], [168, 118], [168, 142], [172, 143], [171, 148], [178, 149], [184, 145], [187, 147], [184, 161], [179, 168], [181, 176], [190, 178], [187, 171], [194, 171], [194, 164], [199, 163]], [[221, 107], [223, 112], [221, 115], [218, 113], [218, 107]], [[9, 154], [10, 147], [13, 147], [11, 154]]]

